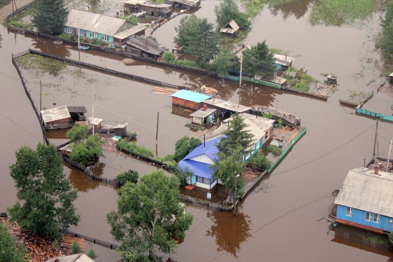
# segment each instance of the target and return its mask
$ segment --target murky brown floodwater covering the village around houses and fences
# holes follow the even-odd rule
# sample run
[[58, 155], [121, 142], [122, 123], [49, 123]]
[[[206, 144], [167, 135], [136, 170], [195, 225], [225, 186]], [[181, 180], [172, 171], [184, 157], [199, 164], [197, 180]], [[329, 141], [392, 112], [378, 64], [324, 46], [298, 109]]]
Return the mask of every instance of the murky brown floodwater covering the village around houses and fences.
[[[203, 1], [197, 15], [214, 20], [215, 1]], [[209, 8], [208, 8], [209, 7]], [[15, 161], [14, 151], [23, 144], [35, 147], [42, 141], [38, 120], [32, 111], [16, 70], [11, 63], [11, 53], [34, 48], [56, 55], [67, 56], [105, 66], [111, 69], [143, 75], [157, 80], [199, 86], [213, 86], [221, 96], [245, 105], [269, 105], [299, 116], [307, 127], [307, 134], [296, 144], [290, 154], [273, 173], [263, 181], [262, 189], [251, 192], [238, 208], [236, 217], [230, 213], [217, 212], [187, 206], [194, 221], [186, 232], [184, 241], [170, 255], [178, 261], [390, 261], [393, 253], [388, 250], [370, 248], [351, 239], [332, 235], [328, 223], [318, 221], [328, 214], [333, 202], [331, 192], [341, 187], [348, 169], [362, 166], [363, 158], [372, 157], [375, 120], [356, 116], [352, 108], [339, 105], [339, 98], [346, 98], [347, 90], [374, 90], [375, 96], [363, 108], [391, 115], [393, 99], [376, 93], [380, 83], [380, 60], [374, 50], [373, 34], [378, 32], [378, 13], [373, 14], [361, 27], [310, 26], [308, 13], [283, 19], [274, 16], [271, 10], [261, 11], [253, 22], [253, 29], [246, 43], [266, 39], [268, 45], [291, 51], [296, 57], [294, 65], [304, 65], [309, 73], [322, 79], [321, 72], [335, 73], [340, 83], [339, 90], [327, 102], [308, 97], [275, 91], [262, 86], [246, 84], [238, 90], [238, 83], [204, 77], [185, 71], [171, 70], [136, 61], [125, 65], [123, 57], [97, 51], [78, 52], [75, 47], [55, 47], [51, 41], [31, 36], [7, 33], [0, 27], [0, 103], [2, 120], [0, 165], [0, 212], [16, 201], [16, 190], [9, 176], [9, 166]], [[179, 16], [153, 35], [163, 43], [171, 43]], [[179, 18], [179, 19], [178, 19]], [[161, 35], [161, 36], [160, 36]], [[301, 56], [298, 56], [301, 55]], [[368, 59], [371, 58], [372, 60]], [[372, 61], [372, 62], [367, 62]], [[155, 149], [156, 114], [160, 112], [158, 152], [165, 155], [173, 151], [174, 142], [183, 135], [193, 133], [184, 124], [187, 118], [172, 111], [170, 97], [152, 92], [152, 86], [89, 70], [81, 71], [97, 79], [92, 83], [84, 80], [63, 78], [65, 88], [46, 86], [49, 93], [43, 98], [46, 106], [56, 103], [84, 105], [91, 116], [91, 104], [97, 103], [95, 117], [105, 121], [127, 121], [128, 130], [139, 133], [138, 143]], [[363, 74], [358, 74], [363, 71]], [[363, 76], [360, 76], [363, 75]], [[28, 86], [35, 101], [38, 101], [37, 79], [24, 71]], [[375, 82], [368, 84], [375, 78]], [[38, 78], [46, 83], [58, 81], [50, 76]], [[57, 83], [57, 82], [56, 82]], [[76, 93], [75, 93], [76, 92]], [[112, 112], [112, 113], [111, 113]], [[115, 113], [115, 114], [114, 114]], [[379, 156], [387, 157], [388, 140], [393, 135], [393, 126], [379, 125]], [[54, 135], [51, 141], [59, 140]], [[56, 142], [57, 143], [57, 142]], [[108, 157], [109, 158], [112, 157]], [[128, 165], [122, 157], [113, 161]], [[119, 169], [111, 161], [105, 162], [103, 176]], [[132, 165], [132, 164], [130, 164]], [[128, 168], [128, 167], [127, 167]], [[144, 168], [144, 167], [143, 167]], [[154, 168], [154, 167], [153, 167]], [[141, 169], [142, 172], [151, 169]], [[78, 190], [75, 201], [81, 221], [72, 230], [104, 241], [114, 242], [105, 214], [116, 209], [116, 189], [90, 179], [67, 165], [64, 172]], [[114, 251], [97, 248], [97, 261], [115, 261]], [[168, 257], [169, 255], [164, 255]]]

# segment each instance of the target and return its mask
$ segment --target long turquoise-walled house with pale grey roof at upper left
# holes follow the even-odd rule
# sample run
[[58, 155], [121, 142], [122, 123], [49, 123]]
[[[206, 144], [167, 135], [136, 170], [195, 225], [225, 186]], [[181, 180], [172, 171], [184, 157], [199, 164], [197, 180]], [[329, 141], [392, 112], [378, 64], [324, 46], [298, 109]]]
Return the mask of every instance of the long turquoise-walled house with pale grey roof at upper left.
[[101, 39], [107, 45], [120, 48], [126, 41], [144, 35], [146, 27], [130, 21], [88, 11], [71, 9], [64, 24], [64, 33], [92, 41]]

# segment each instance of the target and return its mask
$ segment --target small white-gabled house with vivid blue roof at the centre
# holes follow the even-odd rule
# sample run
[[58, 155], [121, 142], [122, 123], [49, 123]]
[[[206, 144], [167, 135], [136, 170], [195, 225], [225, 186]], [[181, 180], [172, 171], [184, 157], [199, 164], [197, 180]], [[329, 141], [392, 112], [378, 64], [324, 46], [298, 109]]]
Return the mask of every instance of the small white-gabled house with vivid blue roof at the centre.
[[217, 179], [213, 178], [213, 168], [210, 166], [217, 161], [219, 149], [215, 146], [222, 137], [208, 140], [202, 143], [183, 158], [178, 167], [192, 172], [189, 183], [205, 189], [213, 189]]

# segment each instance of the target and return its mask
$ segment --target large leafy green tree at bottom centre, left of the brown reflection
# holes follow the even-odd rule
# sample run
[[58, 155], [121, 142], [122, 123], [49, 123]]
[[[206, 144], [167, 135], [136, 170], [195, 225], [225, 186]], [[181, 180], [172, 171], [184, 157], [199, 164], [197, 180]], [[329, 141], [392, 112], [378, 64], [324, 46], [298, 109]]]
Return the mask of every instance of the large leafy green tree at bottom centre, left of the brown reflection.
[[164, 171], [145, 174], [139, 185], [118, 190], [118, 211], [106, 215], [111, 233], [121, 242], [117, 252], [126, 261], [158, 261], [155, 249], [170, 253], [190, 227], [192, 215], [180, 205], [179, 180]]

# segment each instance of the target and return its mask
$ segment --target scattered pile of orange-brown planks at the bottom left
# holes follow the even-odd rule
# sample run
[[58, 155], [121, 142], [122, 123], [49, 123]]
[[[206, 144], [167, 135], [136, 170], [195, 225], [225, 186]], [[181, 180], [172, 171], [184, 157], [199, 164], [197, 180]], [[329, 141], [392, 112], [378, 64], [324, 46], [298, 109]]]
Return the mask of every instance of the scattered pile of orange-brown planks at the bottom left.
[[27, 231], [21, 230], [16, 223], [11, 223], [6, 217], [0, 217], [0, 223], [3, 223], [8, 228], [11, 237], [18, 244], [25, 245], [29, 262], [45, 262], [52, 257], [70, 255], [71, 245], [74, 241], [79, 243], [83, 252], [86, 251], [88, 245], [83, 238], [62, 235], [59, 247], [55, 248], [52, 245], [52, 241], [42, 236], [29, 235]]

